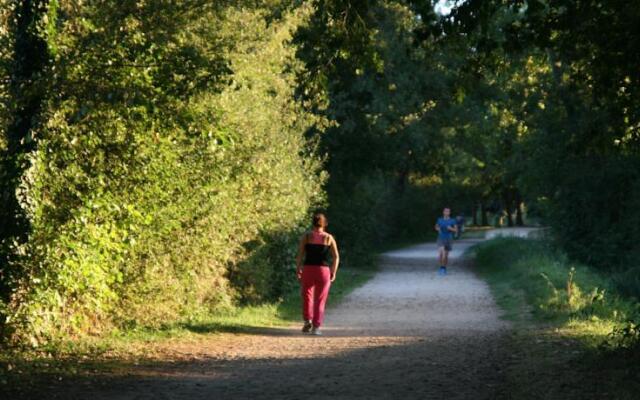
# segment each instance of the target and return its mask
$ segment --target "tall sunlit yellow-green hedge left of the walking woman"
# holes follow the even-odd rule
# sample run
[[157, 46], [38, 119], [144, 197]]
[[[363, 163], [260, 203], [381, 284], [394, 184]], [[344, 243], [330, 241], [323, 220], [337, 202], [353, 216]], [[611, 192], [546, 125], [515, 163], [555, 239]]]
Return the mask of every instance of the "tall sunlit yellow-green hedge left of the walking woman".
[[303, 66], [288, 44], [306, 9], [34, 10], [47, 60], [21, 84], [40, 88], [25, 130], [37, 144], [3, 155], [5, 171], [21, 163], [5, 195], [27, 221], [3, 231], [5, 335], [157, 325], [288, 290], [323, 199], [303, 135], [320, 121], [294, 100]]

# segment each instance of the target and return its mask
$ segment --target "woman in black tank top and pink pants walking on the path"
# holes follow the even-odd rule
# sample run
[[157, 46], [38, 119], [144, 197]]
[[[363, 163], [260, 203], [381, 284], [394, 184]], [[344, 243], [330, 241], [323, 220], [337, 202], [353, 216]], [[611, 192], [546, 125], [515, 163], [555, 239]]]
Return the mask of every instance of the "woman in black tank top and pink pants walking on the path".
[[296, 273], [302, 283], [302, 332], [312, 335], [322, 334], [324, 306], [340, 263], [338, 245], [325, 231], [326, 227], [327, 217], [322, 213], [314, 214], [313, 229], [302, 236], [296, 258]]

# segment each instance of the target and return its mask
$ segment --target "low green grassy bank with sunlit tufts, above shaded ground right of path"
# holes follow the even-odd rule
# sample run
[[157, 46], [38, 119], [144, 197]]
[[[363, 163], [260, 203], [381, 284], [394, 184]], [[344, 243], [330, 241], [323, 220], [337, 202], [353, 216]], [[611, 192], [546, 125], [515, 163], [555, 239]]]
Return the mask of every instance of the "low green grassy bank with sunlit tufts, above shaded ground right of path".
[[615, 326], [638, 312], [609, 277], [571, 262], [549, 242], [499, 238], [477, 245], [474, 254], [480, 273], [496, 285], [524, 293], [538, 318], [601, 320]]

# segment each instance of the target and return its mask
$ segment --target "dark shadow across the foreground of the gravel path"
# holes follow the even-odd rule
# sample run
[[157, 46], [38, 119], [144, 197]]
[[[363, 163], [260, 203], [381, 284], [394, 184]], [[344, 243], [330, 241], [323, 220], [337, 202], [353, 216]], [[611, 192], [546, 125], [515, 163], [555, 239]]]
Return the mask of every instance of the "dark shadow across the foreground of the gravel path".
[[77, 377], [29, 394], [12, 393], [10, 398], [493, 399], [499, 395], [503, 355], [496, 340], [369, 337], [345, 347], [341, 340], [304, 339], [316, 354], [125, 364], [110, 375]]

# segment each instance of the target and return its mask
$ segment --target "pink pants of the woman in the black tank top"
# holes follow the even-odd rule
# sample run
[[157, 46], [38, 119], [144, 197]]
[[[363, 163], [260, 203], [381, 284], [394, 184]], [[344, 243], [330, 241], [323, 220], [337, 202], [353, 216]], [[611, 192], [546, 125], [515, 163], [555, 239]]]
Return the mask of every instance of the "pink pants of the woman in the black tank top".
[[319, 327], [324, 320], [324, 306], [329, 297], [331, 270], [305, 265], [302, 269], [302, 317]]

